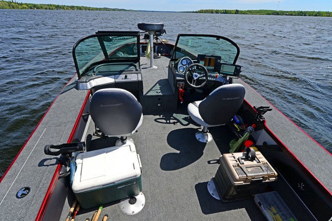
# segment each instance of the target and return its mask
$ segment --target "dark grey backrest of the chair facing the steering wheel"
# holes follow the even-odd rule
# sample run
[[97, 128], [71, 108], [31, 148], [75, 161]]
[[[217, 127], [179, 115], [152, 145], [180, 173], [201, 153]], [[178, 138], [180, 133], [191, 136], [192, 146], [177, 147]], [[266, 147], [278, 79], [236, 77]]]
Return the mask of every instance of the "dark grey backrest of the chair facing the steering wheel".
[[202, 119], [210, 125], [228, 123], [243, 103], [241, 84], [226, 84], [212, 91], [198, 106]]

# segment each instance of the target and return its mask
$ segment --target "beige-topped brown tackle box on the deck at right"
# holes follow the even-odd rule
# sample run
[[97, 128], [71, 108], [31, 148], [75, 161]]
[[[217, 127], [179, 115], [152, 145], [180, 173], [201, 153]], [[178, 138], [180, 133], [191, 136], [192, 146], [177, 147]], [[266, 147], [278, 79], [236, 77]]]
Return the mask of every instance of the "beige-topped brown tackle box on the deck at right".
[[277, 172], [261, 152], [253, 157], [246, 153], [225, 153], [220, 157], [220, 165], [212, 178], [222, 201], [247, 199], [265, 191], [269, 182], [277, 180]]

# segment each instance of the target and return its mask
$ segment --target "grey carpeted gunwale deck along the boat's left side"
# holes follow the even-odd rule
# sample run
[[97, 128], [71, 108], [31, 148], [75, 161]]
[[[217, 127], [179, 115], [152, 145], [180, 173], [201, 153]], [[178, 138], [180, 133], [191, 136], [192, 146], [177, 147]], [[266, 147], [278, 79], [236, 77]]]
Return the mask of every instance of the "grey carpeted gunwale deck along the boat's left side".
[[[45, 145], [67, 143], [87, 91], [75, 89], [75, 78], [57, 96], [0, 182], [0, 219], [35, 220], [58, 164], [58, 157], [47, 156]], [[13, 139], [15, 139], [13, 137]], [[23, 187], [30, 193], [21, 199]], [[15, 213], [10, 212], [17, 208]]]

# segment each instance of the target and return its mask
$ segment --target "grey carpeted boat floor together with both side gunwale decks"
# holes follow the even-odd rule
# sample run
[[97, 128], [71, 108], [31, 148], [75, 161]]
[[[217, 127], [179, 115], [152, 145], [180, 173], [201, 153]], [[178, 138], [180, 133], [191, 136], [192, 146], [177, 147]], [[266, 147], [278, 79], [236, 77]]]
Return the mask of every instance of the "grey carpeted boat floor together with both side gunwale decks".
[[[213, 163], [214, 160], [218, 159], [222, 153], [229, 152], [229, 143], [233, 135], [228, 127], [211, 128], [214, 141], [205, 145], [195, 140], [194, 134], [200, 127], [190, 119], [185, 105], [178, 107], [175, 111], [172, 110], [173, 106], [170, 110], [156, 108], [156, 102], [162, 102], [164, 105], [174, 96], [169, 93], [172, 88], [167, 82], [167, 59], [166, 57], [155, 59], [158, 69], [147, 69], [149, 61], [145, 57], [141, 58], [144, 85], [142, 103], [145, 113], [142, 126], [132, 139], [142, 161], [142, 192], [146, 199], [145, 206], [141, 213], [128, 216], [121, 212], [118, 204], [104, 205], [101, 216], [108, 214], [109, 220], [124, 221], [265, 220], [253, 199], [222, 203], [215, 200], [207, 191], [207, 182], [215, 175], [219, 166]], [[235, 82], [245, 86], [245, 99], [251, 105], [270, 105], [242, 80], [237, 79]], [[28, 139], [10, 170], [2, 178], [0, 183], [1, 219], [35, 220], [58, 163], [58, 157], [44, 154], [44, 147], [68, 141], [87, 95], [86, 91], [77, 91], [74, 85], [75, 82], [72, 79]], [[158, 90], [160, 92], [157, 92]], [[159, 98], [161, 100], [158, 100]], [[164, 108], [163, 105], [162, 108]], [[331, 191], [331, 154], [328, 154], [276, 109], [266, 113], [265, 116], [267, 125], [281, 142]], [[283, 127], [280, 127], [281, 124]], [[292, 133], [288, 133], [289, 131]], [[91, 121], [84, 137], [88, 148], [114, 145], [114, 138], [101, 139], [92, 136], [93, 132], [94, 124]], [[314, 154], [309, 156], [308, 152], [312, 150]], [[281, 189], [279, 193], [293, 213], [296, 213], [296, 217], [299, 220], [305, 220], [307, 216], [301, 209], [297, 209], [299, 202], [295, 200], [294, 193], [289, 190], [282, 178], [277, 182], [272, 189], [279, 186]], [[24, 186], [31, 187], [31, 193], [22, 199], [16, 198], [17, 191]], [[60, 211], [63, 206], [60, 220], [65, 220], [72, 202], [73, 194], [69, 190], [68, 198], [64, 202], [59, 201]], [[13, 207], [19, 208], [20, 212], [12, 213]], [[86, 218], [91, 220], [96, 210], [97, 207], [89, 210], [81, 209], [76, 220]]]

